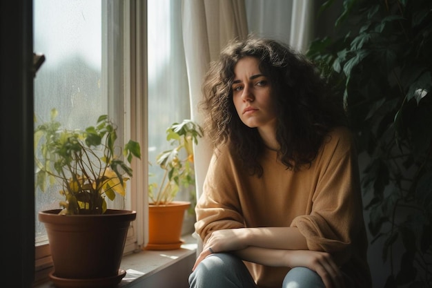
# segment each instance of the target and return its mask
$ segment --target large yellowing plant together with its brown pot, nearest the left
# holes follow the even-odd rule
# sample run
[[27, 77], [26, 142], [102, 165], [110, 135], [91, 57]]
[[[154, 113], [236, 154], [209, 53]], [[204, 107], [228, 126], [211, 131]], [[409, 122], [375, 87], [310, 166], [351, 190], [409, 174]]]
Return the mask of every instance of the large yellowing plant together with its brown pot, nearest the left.
[[62, 209], [39, 212], [48, 234], [57, 287], [114, 286], [126, 272], [119, 269], [130, 222], [136, 212], [108, 209], [106, 200], [125, 195], [140, 147], [130, 140], [116, 146], [117, 126], [101, 115], [96, 126], [68, 130], [56, 121], [35, 128], [35, 184], [46, 191], [61, 184]]

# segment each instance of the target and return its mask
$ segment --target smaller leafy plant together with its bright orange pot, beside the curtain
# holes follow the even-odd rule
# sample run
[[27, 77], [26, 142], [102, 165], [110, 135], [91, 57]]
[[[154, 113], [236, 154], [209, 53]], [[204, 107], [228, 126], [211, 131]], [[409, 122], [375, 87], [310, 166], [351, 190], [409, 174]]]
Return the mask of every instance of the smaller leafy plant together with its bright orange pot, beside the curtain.
[[[190, 119], [173, 123], [166, 130], [171, 149], [157, 155], [157, 164], [164, 171], [159, 184], [150, 183], [149, 240], [146, 249], [179, 249], [184, 212], [195, 202], [195, 171], [193, 143], [202, 137], [202, 128]], [[180, 189], [190, 189], [190, 201], [175, 201]]]

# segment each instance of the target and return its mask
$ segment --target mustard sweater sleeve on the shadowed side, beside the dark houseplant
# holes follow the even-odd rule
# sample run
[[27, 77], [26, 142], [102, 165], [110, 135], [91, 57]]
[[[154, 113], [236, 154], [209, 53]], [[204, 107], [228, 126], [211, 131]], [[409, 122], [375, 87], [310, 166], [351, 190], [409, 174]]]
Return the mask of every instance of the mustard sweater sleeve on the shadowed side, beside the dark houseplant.
[[330, 136], [315, 160], [312, 211], [294, 218], [291, 226], [306, 238], [308, 249], [332, 253], [343, 263], [351, 257], [357, 233], [364, 229], [362, 198], [351, 133], [337, 129]]

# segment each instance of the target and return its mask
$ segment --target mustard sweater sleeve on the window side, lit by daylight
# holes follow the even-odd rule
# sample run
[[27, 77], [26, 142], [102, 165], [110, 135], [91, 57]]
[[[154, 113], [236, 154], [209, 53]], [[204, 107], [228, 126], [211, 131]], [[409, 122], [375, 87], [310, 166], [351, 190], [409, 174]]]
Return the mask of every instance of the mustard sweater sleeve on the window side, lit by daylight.
[[215, 153], [210, 161], [203, 193], [195, 207], [195, 231], [204, 244], [213, 231], [244, 227], [237, 194], [239, 181], [233, 165], [233, 159], [226, 147]]

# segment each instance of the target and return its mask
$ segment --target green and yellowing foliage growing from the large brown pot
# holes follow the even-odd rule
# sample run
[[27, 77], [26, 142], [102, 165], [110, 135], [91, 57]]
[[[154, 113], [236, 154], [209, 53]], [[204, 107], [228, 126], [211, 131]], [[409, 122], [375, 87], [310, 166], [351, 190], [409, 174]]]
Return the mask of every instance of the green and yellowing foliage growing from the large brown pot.
[[139, 143], [130, 140], [121, 150], [115, 145], [117, 126], [101, 115], [96, 126], [85, 130], [61, 128], [52, 109], [50, 122], [35, 128], [36, 186], [46, 191], [59, 182], [64, 200], [62, 214], [103, 214], [106, 198], [125, 195], [126, 181], [132, 176], [128, 163], [140, 158]]

